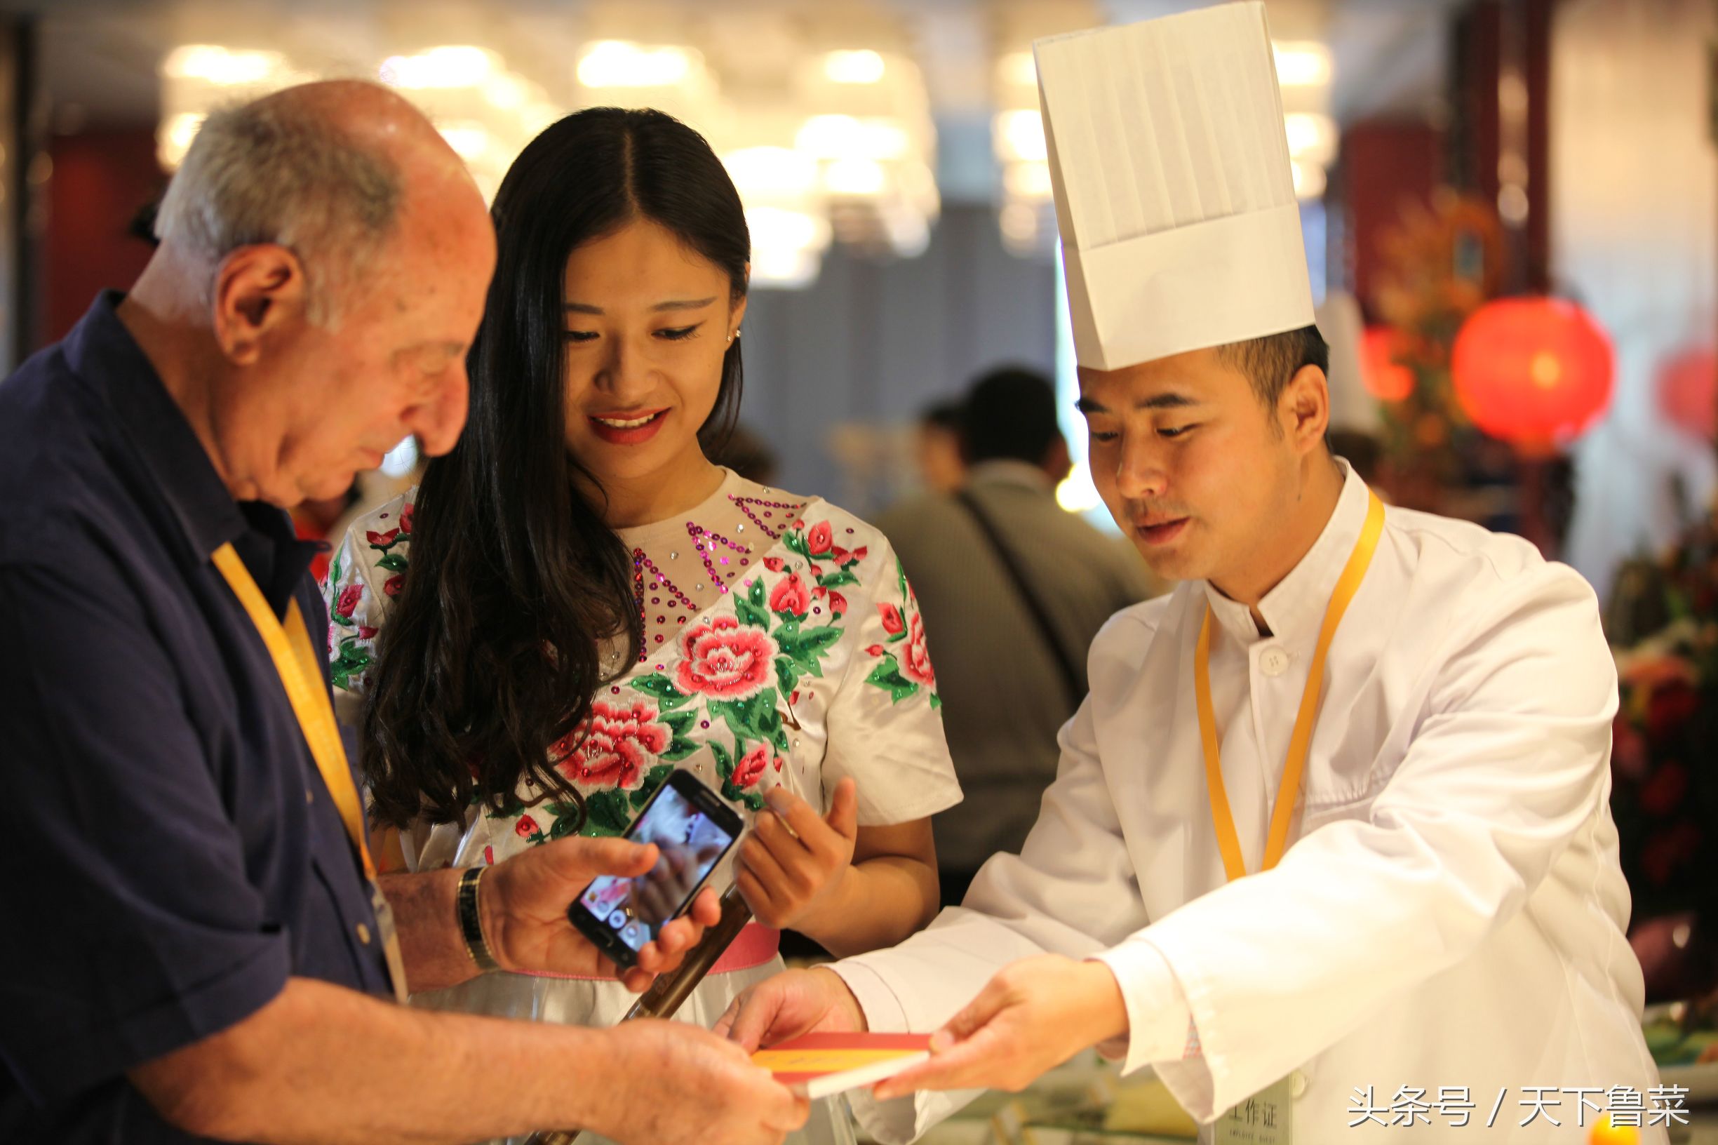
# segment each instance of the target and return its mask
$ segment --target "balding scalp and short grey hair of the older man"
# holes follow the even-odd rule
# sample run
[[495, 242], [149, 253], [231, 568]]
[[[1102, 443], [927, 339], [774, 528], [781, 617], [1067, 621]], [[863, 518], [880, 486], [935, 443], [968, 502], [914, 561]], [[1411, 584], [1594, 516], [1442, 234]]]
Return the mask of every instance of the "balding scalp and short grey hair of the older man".
[[290, 249], [313, 318], [328, 321], [407, 217], [454, 213], [455, 225], [472, 225], [481, 211], [459, 156], [411, 103], [378, 84], [328, 81], [211, 113], [167, 189], [156, 234], [206, 277], [204, 289], [234, 249]]

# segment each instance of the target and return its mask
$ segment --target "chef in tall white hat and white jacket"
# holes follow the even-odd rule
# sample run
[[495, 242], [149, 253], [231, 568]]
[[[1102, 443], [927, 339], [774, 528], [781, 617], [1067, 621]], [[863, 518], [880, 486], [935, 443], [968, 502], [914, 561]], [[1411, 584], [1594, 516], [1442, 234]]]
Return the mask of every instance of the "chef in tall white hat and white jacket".
[[1263, 5], [1036, 57], [1093, 478], [1180, 585], [1093, 641], [1019, 856], [718, 1030], [935, 1032], [880, 1142], [1091, 1045], [1206, 1140], [1665, 1140], [1593, 590], [1328, 452]]

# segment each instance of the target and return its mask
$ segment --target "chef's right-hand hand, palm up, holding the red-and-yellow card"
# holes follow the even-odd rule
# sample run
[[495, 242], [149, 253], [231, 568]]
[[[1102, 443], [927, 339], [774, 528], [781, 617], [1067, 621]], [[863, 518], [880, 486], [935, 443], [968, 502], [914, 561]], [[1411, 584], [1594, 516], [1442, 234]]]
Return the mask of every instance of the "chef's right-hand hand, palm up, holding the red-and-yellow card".
[[1019, 1093], [1074, 1054], [1127, 1032], [1110, 968], [1039, 954], [1008, 963], [931, 1035], [931, 1059], [878, 1083], [880, 1100], [914, 1090]]

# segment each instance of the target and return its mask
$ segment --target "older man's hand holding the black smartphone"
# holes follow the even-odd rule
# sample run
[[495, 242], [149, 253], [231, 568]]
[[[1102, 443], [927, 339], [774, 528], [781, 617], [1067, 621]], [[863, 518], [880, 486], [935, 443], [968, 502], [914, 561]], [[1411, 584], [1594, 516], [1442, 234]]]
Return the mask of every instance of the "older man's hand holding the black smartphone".
[[[636, 879], [649, 872], [656, 860], [653, 844], [572, 837], [545, 842], [497, 863], [483, 877], [479, 891], [490, 952], [502, 970], [615, 977], [615, 964], [567, 922], [567, 906], [598, 875]], [[629, 990], [646, 990], [656, 975], [677, 968], [703, 937], [704, 927], [715, 925], [718, 918], [722, 908], [706, 889], [684, 916], [667, 923], [653, 942], [644, 944], [637, 966], [620, 975], [620, 980]]]

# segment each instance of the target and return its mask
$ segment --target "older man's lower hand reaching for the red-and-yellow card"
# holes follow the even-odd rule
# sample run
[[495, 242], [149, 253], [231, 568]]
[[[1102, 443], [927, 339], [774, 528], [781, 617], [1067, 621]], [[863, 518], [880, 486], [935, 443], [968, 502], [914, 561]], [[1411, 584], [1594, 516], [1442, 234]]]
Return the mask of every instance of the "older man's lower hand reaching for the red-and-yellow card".
[[637, 1085], [613, 1088], [591, 1128], [622, 1145], [778, 1145], [809, 1104], [732, 1042], [675, 1021], [603, 1035]]

